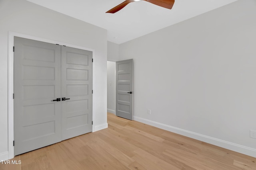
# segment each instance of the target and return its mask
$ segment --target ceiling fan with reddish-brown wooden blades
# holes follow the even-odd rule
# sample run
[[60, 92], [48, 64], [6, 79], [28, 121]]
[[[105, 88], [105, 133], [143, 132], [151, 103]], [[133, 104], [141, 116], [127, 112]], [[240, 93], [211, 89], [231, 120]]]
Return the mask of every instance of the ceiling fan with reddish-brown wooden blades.
[[[134, 2], [134, 1], [140, 1], [140, 0], [125, 0], [124, 2], [122, 2], [121, 4], [119, 4], [118, 6], [112, 8], [111, 10], [107, 11], [106, 13], [116, 13], [119, 10], [121, 10], [122, 8], [124, 8], [127, 4]], [[157, 6], [162, 6], [164, 8], [168, 8], [168, 9], [172, 9], [172, 6], [174, 4], [174, 0], [144, 0], [147, 2], [150, 2], [152, 4], [155, 4]]]

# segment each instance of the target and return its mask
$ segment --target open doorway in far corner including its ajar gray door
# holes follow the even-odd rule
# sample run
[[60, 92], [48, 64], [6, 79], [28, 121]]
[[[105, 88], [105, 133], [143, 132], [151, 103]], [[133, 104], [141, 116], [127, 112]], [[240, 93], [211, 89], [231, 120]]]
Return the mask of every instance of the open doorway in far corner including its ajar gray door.
[[133, 59], [108, 61], [107, 68], [108, 112], [133, 120]]

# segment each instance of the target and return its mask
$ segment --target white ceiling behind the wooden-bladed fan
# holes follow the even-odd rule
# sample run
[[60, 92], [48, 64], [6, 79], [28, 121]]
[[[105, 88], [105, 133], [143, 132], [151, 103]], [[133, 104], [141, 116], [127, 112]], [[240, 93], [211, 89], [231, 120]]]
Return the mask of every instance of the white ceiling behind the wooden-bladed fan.
[[120, 44], [237, 0], [175, 0], [172, 10], [146, 1], [132, 2], [115, 14], [105, 13], [124, 0], [28, 0], [108, 30]]

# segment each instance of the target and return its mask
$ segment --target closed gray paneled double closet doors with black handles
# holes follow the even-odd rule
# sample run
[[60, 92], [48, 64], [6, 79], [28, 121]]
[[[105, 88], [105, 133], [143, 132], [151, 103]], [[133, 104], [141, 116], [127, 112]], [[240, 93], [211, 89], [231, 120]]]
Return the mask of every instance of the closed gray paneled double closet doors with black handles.
[[92, 52], [14, 37], [14, 155], [92, 131]]

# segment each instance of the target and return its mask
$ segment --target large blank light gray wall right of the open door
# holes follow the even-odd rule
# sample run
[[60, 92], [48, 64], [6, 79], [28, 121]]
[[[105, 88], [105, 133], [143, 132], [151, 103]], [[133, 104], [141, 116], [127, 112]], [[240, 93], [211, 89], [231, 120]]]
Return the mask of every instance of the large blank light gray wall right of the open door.
[[256, 157], [255, 0], [119, 47], [120, 60], [134, 59], [136, 120]]

